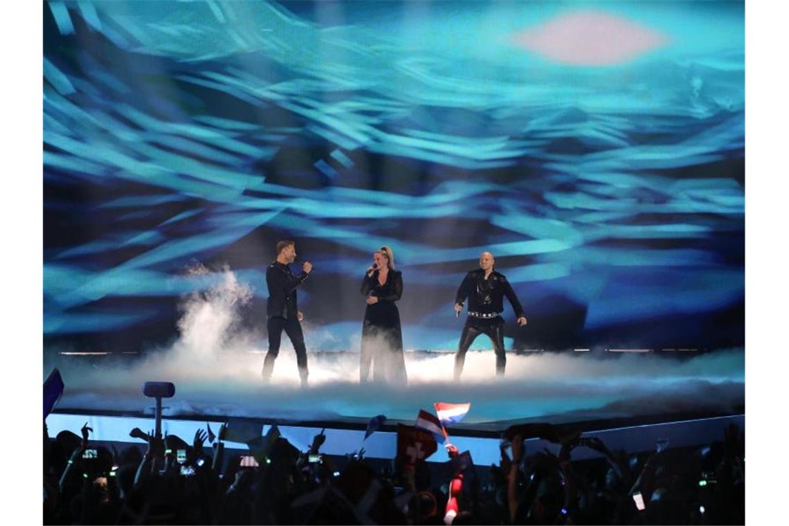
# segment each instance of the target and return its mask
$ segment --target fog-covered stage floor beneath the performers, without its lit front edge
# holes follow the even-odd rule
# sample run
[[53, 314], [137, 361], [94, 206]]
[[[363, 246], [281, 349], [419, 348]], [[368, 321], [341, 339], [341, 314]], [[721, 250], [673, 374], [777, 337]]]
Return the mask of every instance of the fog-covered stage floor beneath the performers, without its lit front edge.
[[49, 356], [65, 392], [57, 412], [144, 416], [153, 401], [141, 386], [174, 382], [165, 417], [241, 417], [283, 423], [364, 427], [376, 415], [413, 423], [436, 401], [471, 402], [457, 435], [499, 434], [512, 423], [660, 422], [742, 414], [743, 349], [710, 353], [508, 353], [507, 375], [495, 378], [492, 351], [469, 351], [462, 382], [452, 382], [451, 353], [406, 353], [407, 386], [359, 385], [358, 353], [311, 353], [310, 382], [299, 386], [295, 356], [282, 349], [274, 378], [260, 376], [259, 349], [203, 353], [179, 350], [131, 360], [118, 356]]

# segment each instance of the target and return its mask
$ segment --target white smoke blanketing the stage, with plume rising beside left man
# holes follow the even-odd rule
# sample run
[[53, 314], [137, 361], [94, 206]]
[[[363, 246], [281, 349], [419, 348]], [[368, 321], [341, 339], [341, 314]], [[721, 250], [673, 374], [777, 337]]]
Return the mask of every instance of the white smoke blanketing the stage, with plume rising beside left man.
[[[466, 421], [473, 423], [562, 414], [727, 411], [744, 399], [742, 349], [686, 360], [650, 354], [600, 359], [593, 353], [508, 353], [503, 379], [495, 377], [492, 350], [469, 351], [457, 383], [452, 381], [454, 354], [406, 353], [407, 385], [359, 385], [356, 346], [353, 353], [308, 353], [309, 387], [303, 390], [285, 334], [274, 376], [266, 384], [260, 375], [267, 350], [262, 327], [242, 330], [239, 323], [251, 287], [228, 268], [210, 273], [195, 267], [193, 274], [211, 278], [213, 285], [184, 298], [179, 337], [169, 349], [132, 365], [113, 360], [98, 366], [79, 360], [49, 364], [58, 365], [65, 380], [58, 407], [139, 411], [151, 405], [140, 393], [148, 380], [175, 383], [176, 396], [166, 404], [169, 414], [296, 420], [367, 419], [380, 413], [413, 420], [419, 408], [429, 409], [434, 401], [471, 401]], [[324, 329], [305, 323], [304, 330], [306, 335]]]

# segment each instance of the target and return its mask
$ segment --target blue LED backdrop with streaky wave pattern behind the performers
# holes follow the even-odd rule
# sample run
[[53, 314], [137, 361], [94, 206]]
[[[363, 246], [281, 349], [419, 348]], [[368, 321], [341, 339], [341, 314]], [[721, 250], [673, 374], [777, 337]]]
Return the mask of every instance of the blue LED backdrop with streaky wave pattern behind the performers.
[[740, 2], [47, 2], [43, 50], [45, 349], [166, 345], [222, 269], [262, 341], [281, 238], [313, 350], [382, 244], [406, 349], [483, 250], [508, 346], [744, 343]]

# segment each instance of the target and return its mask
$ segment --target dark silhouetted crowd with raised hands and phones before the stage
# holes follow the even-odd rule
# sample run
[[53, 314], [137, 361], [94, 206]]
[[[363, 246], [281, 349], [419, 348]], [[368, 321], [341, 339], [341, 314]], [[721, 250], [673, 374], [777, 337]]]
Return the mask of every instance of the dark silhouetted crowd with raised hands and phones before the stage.
[[[92, 430], [44, 427], [44, 524], [744, 524], [744, 435], [694, 448], [610, 451], [548, 424], [510, 427], [489, 467], [308, 451], [275, 438], [264, 456], [229, 454], [226, 426], [192, 443], [131, 432], [118, 451]], [[528, 451], [525, 438], [559, 453]], [[146, 445], [147, 442], [147, 445]], [[526, 446], [529, 442], [526, 442]], [[450, 446], [451, 448], [451, 446]], [[448, 448], [448, 449], [450, 449]], [[573, 451], [600, 453], [572, 460]], [[454, 448], [451, 448], [454, 449]], [[458, 458], [457, 450], [450, 457]]]

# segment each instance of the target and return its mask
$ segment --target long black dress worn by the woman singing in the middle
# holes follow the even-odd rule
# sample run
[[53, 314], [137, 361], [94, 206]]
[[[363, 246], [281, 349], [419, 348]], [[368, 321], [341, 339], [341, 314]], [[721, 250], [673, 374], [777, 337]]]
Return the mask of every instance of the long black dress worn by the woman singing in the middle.
[[365, 320], [361, 326], [361, 363], [359, 376], [367, 382], [370, 366], [376, 382], [406, 385], [406, 360], [402, 354], [402, 332], [400, 312], [395, 301], [402, 296], [402, 273], [389, 270], [387, 281], [378, 282], [378, 270], [372, 276], [365, 274], [361, 282], [364, 296], [375, 296], [378, 302], [368, 304]]

